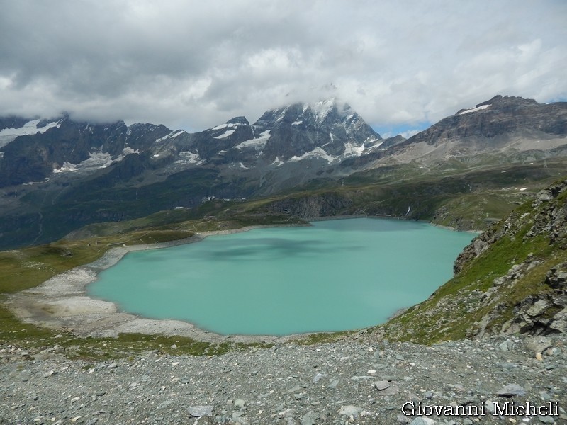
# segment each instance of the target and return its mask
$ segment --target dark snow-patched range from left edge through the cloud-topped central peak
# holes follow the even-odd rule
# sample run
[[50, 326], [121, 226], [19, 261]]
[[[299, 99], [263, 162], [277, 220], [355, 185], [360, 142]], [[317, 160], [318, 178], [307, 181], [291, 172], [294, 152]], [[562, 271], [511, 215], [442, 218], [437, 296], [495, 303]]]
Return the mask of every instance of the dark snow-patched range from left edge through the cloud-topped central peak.
[[164, 125], [123, 121], [79, 123], [4, 118], [0, 121], [0, 186], [44, 181], [55, 174], [94, 171], [140, 154], [166, 174], [195, 166], [273, 169], [286, 163], [338, 164], [378, 148], [383, 140], [346, 103], [335, 99], [266, 111], [256, 123], [236, 117], [189, 134]]

